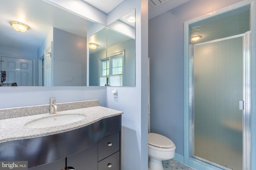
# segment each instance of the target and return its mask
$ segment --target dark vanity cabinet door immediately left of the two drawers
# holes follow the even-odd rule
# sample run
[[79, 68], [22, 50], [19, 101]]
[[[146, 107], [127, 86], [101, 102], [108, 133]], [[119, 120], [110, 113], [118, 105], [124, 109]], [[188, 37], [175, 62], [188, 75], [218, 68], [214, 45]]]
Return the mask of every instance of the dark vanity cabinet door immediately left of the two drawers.
[[98, 143], [67, 157], [67, 167], [75, 170], [98, 170]]

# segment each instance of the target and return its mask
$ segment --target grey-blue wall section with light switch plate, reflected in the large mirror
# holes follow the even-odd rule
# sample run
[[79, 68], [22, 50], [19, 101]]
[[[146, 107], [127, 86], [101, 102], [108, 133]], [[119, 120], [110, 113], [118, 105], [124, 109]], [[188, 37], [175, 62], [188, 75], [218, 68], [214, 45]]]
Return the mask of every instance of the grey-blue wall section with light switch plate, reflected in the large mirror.
[[[53, 85], [86, 86], [86, 37], [53, 28]], [[73, 78], [65, 81], [66, 76]]]

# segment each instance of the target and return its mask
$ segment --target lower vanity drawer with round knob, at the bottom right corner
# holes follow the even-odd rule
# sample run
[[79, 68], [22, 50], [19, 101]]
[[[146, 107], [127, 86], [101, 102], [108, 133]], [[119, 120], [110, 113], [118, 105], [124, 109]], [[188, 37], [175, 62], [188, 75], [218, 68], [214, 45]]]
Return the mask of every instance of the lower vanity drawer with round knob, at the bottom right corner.
[[120, 152], [98, 162], [98, 170], [120, 170]]

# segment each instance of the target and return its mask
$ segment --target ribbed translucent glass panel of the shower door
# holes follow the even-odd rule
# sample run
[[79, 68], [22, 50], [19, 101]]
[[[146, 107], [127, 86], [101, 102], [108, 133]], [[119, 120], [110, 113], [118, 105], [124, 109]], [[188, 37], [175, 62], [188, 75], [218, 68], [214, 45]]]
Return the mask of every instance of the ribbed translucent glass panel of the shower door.
[[242, 37], [194, 47], [194, 155], [242, 170]]

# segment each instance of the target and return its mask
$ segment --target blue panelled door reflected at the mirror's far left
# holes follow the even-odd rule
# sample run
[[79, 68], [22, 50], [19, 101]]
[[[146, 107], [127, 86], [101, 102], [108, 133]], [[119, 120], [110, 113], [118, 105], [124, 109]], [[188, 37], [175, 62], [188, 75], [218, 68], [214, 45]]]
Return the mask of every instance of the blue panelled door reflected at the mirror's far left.
[[18, 86], [33, 85], [32, 60], [1, 57], [1, 61], [1, 70], [6, 71], [4, 83], [17, 83]]

